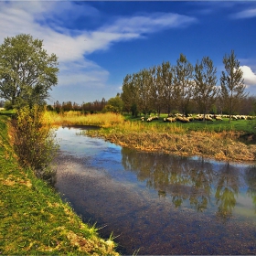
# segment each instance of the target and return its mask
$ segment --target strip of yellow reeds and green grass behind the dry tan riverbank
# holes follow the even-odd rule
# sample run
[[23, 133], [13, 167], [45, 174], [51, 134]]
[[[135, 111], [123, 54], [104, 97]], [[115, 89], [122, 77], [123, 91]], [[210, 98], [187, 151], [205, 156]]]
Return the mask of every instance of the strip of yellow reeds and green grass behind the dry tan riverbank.
[[[121, 115], [115, 113], [96, 113], [96, 114], [81, 114], [80, 112], [64, 112], [58, 114], [56, 112], [46, 112], [46, 121], [54, 125], [98, 125], [104, 128], [113, 127], [115, 125], [123, 125], [125, 123], [133, 123], [133, 128], [140, 129], [156, 129], [158, 131], [176, 130], [189, 132], [242, 132], [256, 134], [256, 119], [255, 120], [237, 120], [229, 123], [228, 118], [223, 118], [223, 121], [202, 122], [193, 121], [190, 123], [165, 123], [166, 114], [161, 114], [159, 120], [154, 120], [150, 123], [146, 121], [142, 123], [140, 117], [133, 118], [131, 115]], [[146, 120], [146, 119], [145, 119]], [[131, 129], [131, 125], [127, 129]]]

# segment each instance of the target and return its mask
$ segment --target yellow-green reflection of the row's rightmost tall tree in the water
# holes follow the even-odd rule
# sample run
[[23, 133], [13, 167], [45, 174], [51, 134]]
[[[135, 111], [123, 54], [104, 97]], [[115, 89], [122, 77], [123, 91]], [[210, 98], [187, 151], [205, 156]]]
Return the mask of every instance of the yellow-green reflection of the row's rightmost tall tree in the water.
[[219, 169], [216, 187], [217, 215], [225, 221], [232, 216], [232, 210], [236, 206], [236, 198], [239, 194], [240, 176], [239, 170], [232, 165], [223, 165]]

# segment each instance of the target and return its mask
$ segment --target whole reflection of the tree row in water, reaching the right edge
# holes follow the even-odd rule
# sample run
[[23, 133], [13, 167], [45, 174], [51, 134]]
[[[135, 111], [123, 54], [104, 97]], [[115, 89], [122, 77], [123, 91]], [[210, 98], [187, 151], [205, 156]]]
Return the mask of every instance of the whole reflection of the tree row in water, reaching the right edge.
[[248, 187], [247, 195], [256, 204], [255, 167], [244, 172], [242, 165], [148, 154], [128, 148], [122, 149], [122, 164], [138, 180], [145, 181], [147, 187], [158, 191], [159, 197], [171, 197], [176, 208], [188, 202], [191, 208], [202, 212], [212, 202], [218, 208], [216, 216], [227, 221], [232, 217], [242, 187]]

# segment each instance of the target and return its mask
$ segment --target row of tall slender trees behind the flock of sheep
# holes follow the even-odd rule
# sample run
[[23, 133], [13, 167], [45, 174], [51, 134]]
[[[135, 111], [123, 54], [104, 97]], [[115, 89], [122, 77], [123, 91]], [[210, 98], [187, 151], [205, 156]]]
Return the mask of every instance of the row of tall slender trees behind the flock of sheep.
[[204, 57], [193, 66], [183, 54], [175, 66], [166, 61], [128, 74], [123, 79], [123, 110], [133, 115], [153, 111], [170, 113], [172, 110], [206, 114], [218, 101], [221, 112], [238, 112], [247, 94], [240, 62], [233, 50], [224, 56], [223, 64], [225, 71], [222, 71], [220, 84], [211, 59]]

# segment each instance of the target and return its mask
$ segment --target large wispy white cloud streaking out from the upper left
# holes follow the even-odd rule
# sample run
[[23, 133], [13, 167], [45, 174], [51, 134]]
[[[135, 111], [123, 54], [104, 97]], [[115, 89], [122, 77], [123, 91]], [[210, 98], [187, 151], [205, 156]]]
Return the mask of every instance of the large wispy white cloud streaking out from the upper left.
[[[88, 60], [89, 54], [106, 50], [113, 43], [195, 23], [194, 17], [155, 13], [115, 17], [112, 23], [89, 29], [71, 29], [80, 16], [99, 16], [90, 5], [55, 1], [0, 2], [0, 43], [5, 37], [30, 34], [44, 40], [48, 53], [59, 57], [59, 87], [105, 88], [109, 72]], [[69, 25], [67, 27], [67, 25]], [[71, 97], [71, 95], [69, 95]]]

